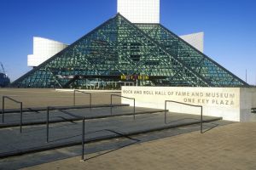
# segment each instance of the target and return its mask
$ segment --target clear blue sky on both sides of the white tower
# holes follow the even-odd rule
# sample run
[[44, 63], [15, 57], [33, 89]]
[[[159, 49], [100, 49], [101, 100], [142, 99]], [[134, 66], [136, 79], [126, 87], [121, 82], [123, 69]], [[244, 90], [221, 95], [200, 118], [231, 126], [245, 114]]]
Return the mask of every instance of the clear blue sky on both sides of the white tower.
[[[12, 81], [29, 71], [32, 37], [71, 44], [113, 17], [117, 0], [0, 0], [0, 62]], [[255, 0], [160, 0], [160, 23], [205, 32], [205, 54], [256, 84]]]

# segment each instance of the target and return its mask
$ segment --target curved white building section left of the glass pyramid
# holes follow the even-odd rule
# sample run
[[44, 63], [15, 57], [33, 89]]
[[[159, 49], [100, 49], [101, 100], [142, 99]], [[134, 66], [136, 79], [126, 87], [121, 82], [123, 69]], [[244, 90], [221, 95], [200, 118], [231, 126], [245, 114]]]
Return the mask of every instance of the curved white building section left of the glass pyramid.
[[33, 37], [33, 54], [27, 55], [27, 65], [38, 66], [67, 46], [67, 44], [43, 37]]

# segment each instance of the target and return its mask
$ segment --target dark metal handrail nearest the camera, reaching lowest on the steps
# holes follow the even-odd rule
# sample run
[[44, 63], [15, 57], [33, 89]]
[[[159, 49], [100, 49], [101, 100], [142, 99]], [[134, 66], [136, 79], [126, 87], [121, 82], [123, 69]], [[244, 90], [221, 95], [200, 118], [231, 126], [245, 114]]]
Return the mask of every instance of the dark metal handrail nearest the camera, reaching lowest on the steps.
[[[49, 111], [53, 111], [53, 110], [58, 110], [61, 111], [60, 109], [53, 107], [53, 106], [48, 106], [47, 107], [47, 117], [46, 117], [46, 142], [49, 143]], [[72, 113], [69, 113], [67, 111], [61, 111], [64, 114], [67, 114], [69, 116], [73, 116], [75, 118], [79, 118], [81, 120], [83, 120], [83, 124], [82, 124], [82, 156], [81, 156], [81, 161], [84, 161], [84, 122], [85, 122], [85, 117], [84, 116], [77, 116], [74, 115]]]

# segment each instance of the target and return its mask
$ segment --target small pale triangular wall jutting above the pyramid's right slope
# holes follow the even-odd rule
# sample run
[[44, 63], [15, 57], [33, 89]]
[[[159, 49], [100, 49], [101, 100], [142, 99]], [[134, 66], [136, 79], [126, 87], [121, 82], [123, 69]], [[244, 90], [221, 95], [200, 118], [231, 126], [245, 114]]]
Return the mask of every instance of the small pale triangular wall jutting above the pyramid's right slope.
[[180, 36], [185, 42], [188, 42], [194, 48], [204, 53], [204, 32]]

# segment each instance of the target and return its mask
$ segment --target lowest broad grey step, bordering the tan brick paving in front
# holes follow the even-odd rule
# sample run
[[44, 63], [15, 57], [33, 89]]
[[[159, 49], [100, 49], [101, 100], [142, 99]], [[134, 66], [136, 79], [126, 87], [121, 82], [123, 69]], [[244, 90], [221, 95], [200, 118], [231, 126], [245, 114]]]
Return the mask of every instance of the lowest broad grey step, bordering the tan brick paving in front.
[[[203, 122], [214, 122], [221, 117], [203, 116]], [[151, 133], [169, 128], [186, 127], [201, 122], [200, 116], [168, 113], [168, 123], [164, 123], [164, 114], [144, 114], [136, 116], [119, 116], [85, 122], [85, 144], [106, 139], [116, 139], [141, 133]], [[0, 158], [19, 156], [32, 152], [54, 150], [81, 144], [82, 122], [51, 124], [49, 143], [46, 143], [45, 127], [26, 127], [18, 133], [17, 127], [1, 129]], [[86, 146], [85, 146], [86, 147]]]

